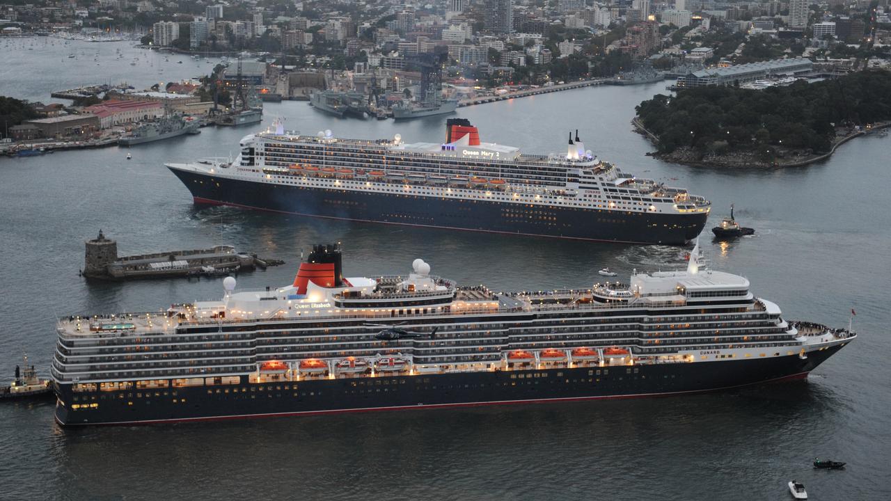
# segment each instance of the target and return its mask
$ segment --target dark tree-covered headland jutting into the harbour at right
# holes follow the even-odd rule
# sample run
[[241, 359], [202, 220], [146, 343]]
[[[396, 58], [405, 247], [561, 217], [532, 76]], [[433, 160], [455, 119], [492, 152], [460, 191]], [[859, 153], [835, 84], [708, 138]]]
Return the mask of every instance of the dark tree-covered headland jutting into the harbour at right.
[[633, 120], [654, 156], [708, 167], [793, 167], [891, 125], [891, 72], [865, 70], [764, 90], [704, 86], [657, 94]]

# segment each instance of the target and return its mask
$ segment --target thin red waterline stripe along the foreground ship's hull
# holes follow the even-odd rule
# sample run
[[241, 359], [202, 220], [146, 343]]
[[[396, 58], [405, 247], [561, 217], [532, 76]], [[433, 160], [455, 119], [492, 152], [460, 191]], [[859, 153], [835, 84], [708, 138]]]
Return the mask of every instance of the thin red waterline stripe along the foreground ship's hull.
[[442, 408], [450, 408], [450, 407], [486, 407], [486, 406], [507, 406], [507, 405], [516, 405], [516, 404], [542, 404], [542, 403], [552, 403], [552, 402], [580, 402], [585, 400], [611, 400], [611, 399], [625, 399], [625, 398], [651, 398], [651, 397], [662, 397], [662, 396], [670, 396], [670, 395], [683, 395], [683, 394], [691, 394], [691, 393], [707, 393], [711, 391], [721, 391], [721, 390], [732, 390], [734, 388], [742, 388], [745, 386], [754, 386], [757, 384], [765, 384], [772, 382], [782, 382], [782, 381], [796, 381], [802, 380], [807, 377], [809, 372], [803, 372], [798, 374], [791, 374], [788, 376], [782, 376], [774, 379], [768, 379], [765, 381], [759, 382], [747, 382], [745, 384], [736, 384], [733, 386], [724, 386], [723, 388], [713, 388], [710, 390], [685, 390], [685, 391], [669, 391], [665, 393], [636, 393], [633, 395], [604, 395], [599, 397], [560, 397], [560, 398], [532, 398], [527, 400], [495, 400], [493, 402], [465, 402], [465, 403], [455, 403], [455, 404], [428, 404], [428, 405], [415, 405], [415, 406], [394, 406], [394, 407], [363, 407], [358, 409], [331, 409], [331, 410], [322, 410], [322, 411], [296, 411], [296, 412], [282, 412], [282, 413], [266, 413], [266, 414], [243, 414], [243, 415], [215, 415], [208, 417], [185, 417], [185, 418], [176, 418], [176, 419], [153, 419], [147, 421], [121, 421], [116, 423], [70, 423], [63, 424], [59, 421], [58, 416], [56, 416], [56, 423], [61, 424], [62, 426], [89, 426], [89, 425], [132, 425], [132, 424], [156, 424], [156, 423], [195, 423], [195, 422], [215, 422], [215, 421], [230, 421], [233, 419], [251, 419], [251, 418], [260, 418], [260, 417], [283, 417], [289, 415], [328, 415], [328, 414], [346, 414], [346, 413], [360, 413], [360, 412], [380, 412], [380, 411], [397, 411], [397, 410], [410, 410], [410, 409], [442, 409]]

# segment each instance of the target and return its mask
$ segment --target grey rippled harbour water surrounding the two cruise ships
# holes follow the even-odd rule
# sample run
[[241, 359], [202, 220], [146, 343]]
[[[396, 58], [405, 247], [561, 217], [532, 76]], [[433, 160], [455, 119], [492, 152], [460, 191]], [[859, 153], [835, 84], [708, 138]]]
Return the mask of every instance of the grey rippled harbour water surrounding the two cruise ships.
[[[34, 80], [57, 63], [16, 61], [18, 69], [4, 70], [0, 94], [36, 87]], [[891, 348], [891, 139], [854, 140], [806, 168], [667, 164], [644, 156], [650, 145], [629, 124], [634, 105], [663, 89], [593, 87], [462, 108], [454, 116], [470, 119], [486, 141], [527, 152], [560, 152], [568, 131], [579, 128], [602, 159], [713, 201], [707, 227], [734, 202], [756, 237], [719, 244], [703, 234], [710, 266], [747, 276], [753, 291], [789, 319], [846, 326], [856, 309], [860, 339], [808, 382], [672, 398], [82, 430], [53, 423], [51, 403], [4, 405], [0, 497], [779, 500], [789, 497], [792, 479], [817, 500], [891, 497], [891, 365], [884, 358]], [[445, 137], [445, 117], [331, 119], [307, 103], [266, 103], [263, 127], [277, 116], [308, 134], [330, 128], [335, 136]], [[234, 155], [249, 132], [208, 127], [200, 136], [129, 150], [0, 159], [2, 375], [12, 376], [22, 352], [46, 373], [55, 316], [144, 311], [222, 295], [221, 278], [85, 281], [78, 277], [83, 242], [100, 228], [119, 241], [121, 253], [230, 243], [287, 261], [240, 275], [248, 287], [290, 283], [301, 249], [333, 241], [344, 244], [346, 275], [404, 272], [420, 257], [439, 275], [495, 290], [587, 286], [599, 281], [601, 267], [626, 276], [634, 268], [683, 266], [669, 247], [197, 209], [162, 166]], [[814, 456], [848, 467], [815, 471]]]

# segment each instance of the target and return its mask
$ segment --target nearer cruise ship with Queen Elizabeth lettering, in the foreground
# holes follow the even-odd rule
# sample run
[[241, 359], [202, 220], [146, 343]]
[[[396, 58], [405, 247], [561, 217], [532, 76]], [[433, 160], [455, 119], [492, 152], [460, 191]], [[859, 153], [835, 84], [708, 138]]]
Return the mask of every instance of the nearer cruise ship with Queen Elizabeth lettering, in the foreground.
[[804, 379], [856, 335], [787, 320], [746, 278], [494, 292], [432, 275], [344, 277], [318, 245], [293, 283], [148, 313], [59, 319], [62, 425], [631, 398]]

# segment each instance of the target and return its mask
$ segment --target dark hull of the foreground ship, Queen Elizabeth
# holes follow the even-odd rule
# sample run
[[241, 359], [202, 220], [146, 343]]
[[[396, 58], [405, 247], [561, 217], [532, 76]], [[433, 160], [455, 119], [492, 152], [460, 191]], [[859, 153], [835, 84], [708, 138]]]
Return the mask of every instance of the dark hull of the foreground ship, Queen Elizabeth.
[[[278, 415], [638, 398], [804, 379], [842, 345], [747, 360], [525, 371], [382, 375], [298, 382], [73, 393], [57, 385], [63, 425], [209, 421]], [[61, 404], [64, 402], [64, 405]], [[93, 406], [95, 404], [95, 406]], [[73, 409], [72, 405], [78, 405]]]

